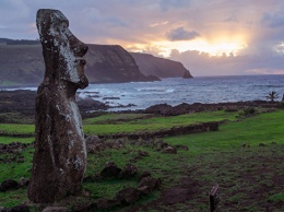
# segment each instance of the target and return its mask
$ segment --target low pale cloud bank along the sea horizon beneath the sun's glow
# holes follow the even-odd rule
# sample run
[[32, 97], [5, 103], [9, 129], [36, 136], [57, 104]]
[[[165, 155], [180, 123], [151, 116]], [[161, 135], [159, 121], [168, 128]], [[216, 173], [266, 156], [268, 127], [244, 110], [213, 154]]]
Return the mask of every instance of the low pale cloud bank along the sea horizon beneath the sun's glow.
[[242, 55], [211, 57], [206, 52], [174, 49], [170, 59], [181, 61], [193, 76], [284, 74], [284, 55]]

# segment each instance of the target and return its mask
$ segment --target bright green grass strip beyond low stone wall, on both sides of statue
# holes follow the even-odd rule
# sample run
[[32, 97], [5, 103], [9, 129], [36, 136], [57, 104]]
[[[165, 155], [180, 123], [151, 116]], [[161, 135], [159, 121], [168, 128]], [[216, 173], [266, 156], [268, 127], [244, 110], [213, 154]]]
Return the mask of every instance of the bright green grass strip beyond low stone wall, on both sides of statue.
[[[213, 111], [173, 117], [143, 118], [147, 116], [141, 114], [107, 114], [96, 118], [88, 118], [83, 121], [84, 132], [85, 134], [111, 134], [155, 131], [199, 122], [234, 120], [237, 113]], [[0, 123], [0, 133], [4, 134], [33, 136], [34, 131], [34, 125]]]

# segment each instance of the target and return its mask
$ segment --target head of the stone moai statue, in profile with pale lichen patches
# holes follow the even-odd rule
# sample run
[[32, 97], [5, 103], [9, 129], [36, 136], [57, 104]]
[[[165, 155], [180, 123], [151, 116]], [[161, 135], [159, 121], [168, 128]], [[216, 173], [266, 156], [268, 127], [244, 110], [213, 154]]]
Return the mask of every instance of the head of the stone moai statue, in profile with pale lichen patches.
[[42, 9], [37, 12], [37, 28], [46, 63], [45, 79], [67, 81], [80, 89], [88, 85], [84, 74], [83, 56], [87, 46], [79, 40], [68, 28], [68, 19], [58, 10]]

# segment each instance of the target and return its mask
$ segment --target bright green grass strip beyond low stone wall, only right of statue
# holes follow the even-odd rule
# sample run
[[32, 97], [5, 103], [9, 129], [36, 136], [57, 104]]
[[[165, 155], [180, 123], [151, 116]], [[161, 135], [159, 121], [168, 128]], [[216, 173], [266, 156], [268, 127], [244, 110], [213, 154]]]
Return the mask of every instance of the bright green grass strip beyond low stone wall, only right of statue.
[[[236, 120], [238, 113], [206, 111], [199, 114], [187, 114], [170, 117], [142, 118], [146, 115], [104, 115], [97, 118], [84, 120], [84, 132], [86, 134], [114, 134], [114, 133], [140, 133], [154, 132], [173, 127], [181, 127], [210, 121]], [[121, 122], [121, 118], [125, 121]], [[134, 118], [133, 118], [134, 117]], [[119, 122], [118, 122], [119, 120]], [[92, 125], [91, 125], [92, 123]]]

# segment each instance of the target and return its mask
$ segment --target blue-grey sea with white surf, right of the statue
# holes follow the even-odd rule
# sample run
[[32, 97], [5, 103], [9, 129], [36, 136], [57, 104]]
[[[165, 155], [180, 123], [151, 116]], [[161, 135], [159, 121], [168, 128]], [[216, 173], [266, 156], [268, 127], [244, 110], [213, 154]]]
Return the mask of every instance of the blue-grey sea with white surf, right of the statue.
[[202, 76], [193, 79], [163, 79], [158, 82], [90, 84], [80, 97], [93, 97], [110, 106], [135, 106], [111, 110], [144, 109], [156, 104], [171, 106], [181, 103], [224, 103], [265, 101], [275, 91], [279, 101], [284, 94], [284, 75]]

